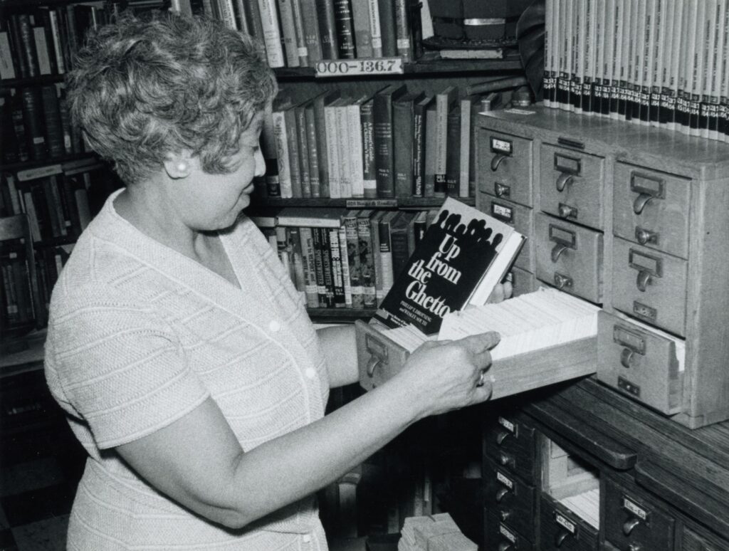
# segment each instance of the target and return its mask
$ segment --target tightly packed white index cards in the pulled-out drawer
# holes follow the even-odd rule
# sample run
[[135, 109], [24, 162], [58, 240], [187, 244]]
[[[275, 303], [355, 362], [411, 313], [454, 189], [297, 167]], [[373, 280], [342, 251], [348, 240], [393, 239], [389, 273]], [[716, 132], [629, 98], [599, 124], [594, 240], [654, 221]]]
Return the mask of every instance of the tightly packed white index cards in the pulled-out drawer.
[[600, 308], [558, 289], [539, 289], [483, 306], [448, 313], [438, 340], [496, 331], [501, 341], [491, 359], [510, 358], [597, 335]]

